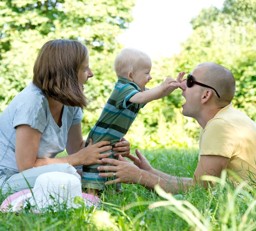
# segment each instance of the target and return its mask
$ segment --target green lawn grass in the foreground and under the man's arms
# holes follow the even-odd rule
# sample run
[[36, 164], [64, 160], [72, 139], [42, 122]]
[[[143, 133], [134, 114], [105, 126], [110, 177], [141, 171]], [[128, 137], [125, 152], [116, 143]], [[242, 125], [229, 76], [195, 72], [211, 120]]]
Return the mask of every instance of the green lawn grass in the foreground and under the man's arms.
[[[142, 152], [153, 167], [175, 176], [192, 177], [198, 150]], [[160, 189], [122, 185], [123, 194], [102, 194], [102, 209], [59, 209], [45, 214], [0, 214], [0, 230], [254, 230], [256, 190], [233, 188], [225, 179], [205, 190], [196, 187], [173, 197]], [[0, 202], [6, 196], [1, 195]], [[179, 200], [177, 200], [179, 199]]]

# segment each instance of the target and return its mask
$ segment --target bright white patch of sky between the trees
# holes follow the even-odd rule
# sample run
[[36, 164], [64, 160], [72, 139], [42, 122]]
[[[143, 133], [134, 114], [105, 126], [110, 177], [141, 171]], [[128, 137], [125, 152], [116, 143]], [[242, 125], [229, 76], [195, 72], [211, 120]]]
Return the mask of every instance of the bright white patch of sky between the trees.
[[125, 47], [146, 52], [151, 58], [170, 57], [192, 33], [189, 23], [202, 8], [221, 8], [224, 0], [137, 0], [134, 20], [117, 40]]

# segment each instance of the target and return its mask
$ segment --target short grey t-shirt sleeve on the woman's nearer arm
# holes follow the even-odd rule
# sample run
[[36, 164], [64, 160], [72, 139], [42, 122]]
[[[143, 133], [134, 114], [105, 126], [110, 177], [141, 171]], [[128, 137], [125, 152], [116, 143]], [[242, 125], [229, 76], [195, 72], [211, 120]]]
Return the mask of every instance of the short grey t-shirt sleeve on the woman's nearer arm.
[[15, 109], [12, 126], [16, 129], [17, 126], [21, 124], [28, 124], [30, 127], [37, 129], [41, 133], [44, 132], [44, 129], [47, 126], [47, 118], [42, 101], [20, 101], [20, 104]]

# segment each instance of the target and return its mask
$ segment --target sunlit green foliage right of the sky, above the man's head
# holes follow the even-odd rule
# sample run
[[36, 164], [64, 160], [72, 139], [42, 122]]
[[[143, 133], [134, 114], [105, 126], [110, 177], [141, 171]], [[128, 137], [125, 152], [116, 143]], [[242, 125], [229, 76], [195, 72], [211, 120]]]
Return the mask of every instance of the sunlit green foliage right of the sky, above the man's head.
[[192, 35], [181, 45], [174, 69], [215, 62], [233, 72], [233, 104], [256, 120], [256, 0], [226, 0], [222, 9], [203, 9], [191, 21]]

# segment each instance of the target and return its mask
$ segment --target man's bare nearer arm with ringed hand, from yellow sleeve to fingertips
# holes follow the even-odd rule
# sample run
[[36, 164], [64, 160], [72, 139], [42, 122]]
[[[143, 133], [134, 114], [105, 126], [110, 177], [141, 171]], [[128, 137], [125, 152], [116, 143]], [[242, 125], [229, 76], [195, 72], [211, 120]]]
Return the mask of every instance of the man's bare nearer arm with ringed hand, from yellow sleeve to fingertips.
[[[145, 158], [145, 157], [144, 157]], [[201, 183], [201, 176], [212, 175], [220, 176], [221, 170], [227, 168], [229, 158], [224, 156], [201, 156], [200, 162], [194, 173], [194, 178], [175, 177], [157, 170], [142, 170], [136, 163], [132, 163], [122, 156], [119, 156], [119, 161], [114, 159], [102, 159], [103, 163], [110, 163], [116, 166], [100, 166], [100, 171], [110, 171], [109, 173], [99, 173], [100, 177], [113, 177], [113, 172], [116, 172], [117, 179], [106, 182], [106, 184], [127, 183], [140, 184], [148, 189], [153, 190], [155, 185], [160, 185], [166, 192], [180, 193], [187, 191], [188, 187]], [[142, 160], [143, 161], [143, 160]], [[145, 162], [144, 162], [145, 164]], [[208, 183], [203, 182], [207, 187]]]

